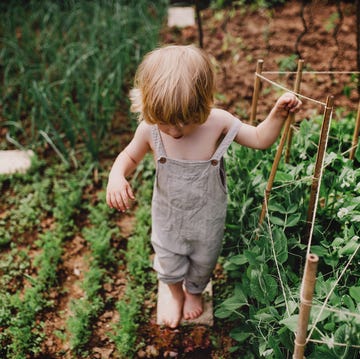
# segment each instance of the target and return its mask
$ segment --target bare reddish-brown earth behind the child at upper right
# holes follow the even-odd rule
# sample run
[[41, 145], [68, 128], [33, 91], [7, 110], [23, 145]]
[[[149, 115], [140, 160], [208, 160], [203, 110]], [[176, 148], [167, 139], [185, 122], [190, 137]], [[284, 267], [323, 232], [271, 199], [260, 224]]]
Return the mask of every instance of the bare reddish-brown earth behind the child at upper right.
[[[334, 96], [335, 107], [357, 109], [358, 94], [356, 11], [349, 2], [325, 0], [286, 1], [273, 9], [225, 9], [202, 12], [204, 49], [212, 56], [217, 69], [217, 105], [248, 119], [254, 87], [257, 60], [263, 59], [263, 72], [296, 71], [297, 59], [304, 60], [301, 94], [320, 102]], [[196, 27], [164, 31], [165, 43], [198, 42]], [[310, 71], [336, 72], [311, 74]], [[288, 89], [293, 89], [294, 74], [264, 74]], [[344, 87], [353, 88], [350, 99]], [[262, 81], [258, 118], [266, 116], [279, 95], [279, 89]], [[309, 117], [322, 108], [304, 100], [298, 117]]]

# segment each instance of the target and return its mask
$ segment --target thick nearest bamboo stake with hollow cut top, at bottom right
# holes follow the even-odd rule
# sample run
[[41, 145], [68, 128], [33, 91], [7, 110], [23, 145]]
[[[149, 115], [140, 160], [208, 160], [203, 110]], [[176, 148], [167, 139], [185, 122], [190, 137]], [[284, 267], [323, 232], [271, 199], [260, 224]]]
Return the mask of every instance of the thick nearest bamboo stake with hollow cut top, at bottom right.
[[316, 254], [309, 254], [306, 258], [304, 275], [300, 290], [300, 311], [295, 336], [293, 359], [304, 358], [307, 327], [314, 295], [318, 262], [319, 257]]

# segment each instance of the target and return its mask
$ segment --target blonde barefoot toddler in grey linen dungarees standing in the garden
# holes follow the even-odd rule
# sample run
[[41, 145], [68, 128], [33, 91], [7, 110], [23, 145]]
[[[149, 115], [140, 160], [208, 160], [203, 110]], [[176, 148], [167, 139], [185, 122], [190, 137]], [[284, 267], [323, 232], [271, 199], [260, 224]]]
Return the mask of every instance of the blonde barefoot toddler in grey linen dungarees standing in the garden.
[[109, 175], [107, 203], [129, 208], [134, 194], [126, 177], [151, 151], [156, 162], [151, 243], [154, 269], [168, 285], [171, 303], [163, 324], [203, 312], [202, 292], [221, 251], [226, 180], [223, 155], [235, 142], [255, 149], [271, 146], [289, 112], [301, 101], [282, 95], [257, 127], [213, 108], [214, 70], [206, 53], [192, 45], [166, 46], [147, 54], [130, 93], [139, 125]]

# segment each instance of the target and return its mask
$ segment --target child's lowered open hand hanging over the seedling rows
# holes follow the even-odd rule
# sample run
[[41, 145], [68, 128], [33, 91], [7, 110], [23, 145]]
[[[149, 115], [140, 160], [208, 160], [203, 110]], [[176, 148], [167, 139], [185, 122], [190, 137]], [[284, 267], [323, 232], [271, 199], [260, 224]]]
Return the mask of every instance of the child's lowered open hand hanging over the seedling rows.
[[125, 212], [130, 208], [130, 200], [135, 196], [129, 182], [125, 178], [109, 179], [106, 188], [106, 203], [110, 208]]

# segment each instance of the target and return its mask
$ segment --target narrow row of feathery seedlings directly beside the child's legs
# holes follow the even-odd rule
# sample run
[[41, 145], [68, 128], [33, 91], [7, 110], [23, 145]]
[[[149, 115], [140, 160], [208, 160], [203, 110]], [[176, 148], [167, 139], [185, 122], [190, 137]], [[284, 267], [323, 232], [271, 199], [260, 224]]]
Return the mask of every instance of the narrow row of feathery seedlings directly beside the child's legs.
[[[151, 196], [154, 174], [152, 158], [146, 156], [138, 167], [143, 183], [138, 188], [139, 209], [136, 212], [136, 227], [129, 238], [127, 251], [124, 253], [127, 263], [128, 285], [124, 296], [116, 307], [120, 320], [115, 325], [113, 340], [122, 358], [133, 357], [143, 345], [137, 338], [137, 329], [144, 321], [149, 320], [149, 313], [144, 303], [149, 301], [151, 294], [156, 292], [156, 278], [151, 270], [150, 262], [150, 231], [151, 231]], [[139, 186], [138, 176], [134, 177], [135, 187]]]

